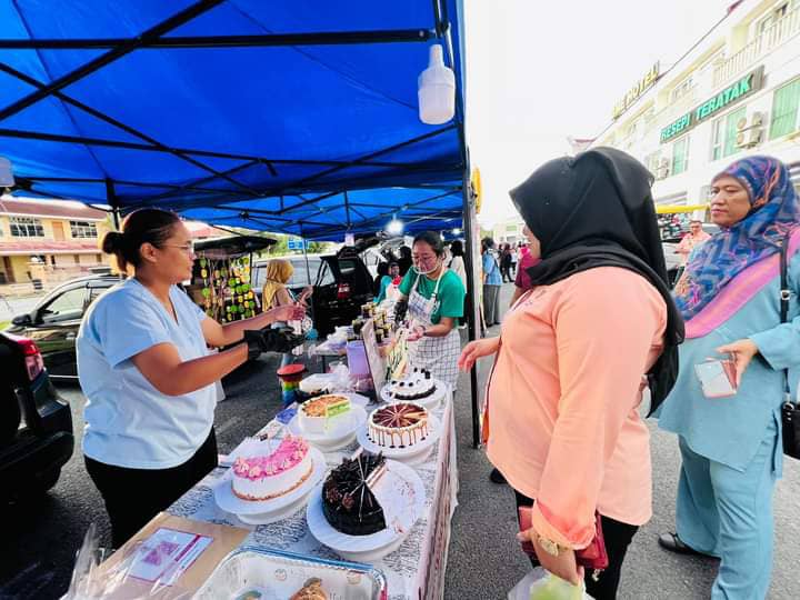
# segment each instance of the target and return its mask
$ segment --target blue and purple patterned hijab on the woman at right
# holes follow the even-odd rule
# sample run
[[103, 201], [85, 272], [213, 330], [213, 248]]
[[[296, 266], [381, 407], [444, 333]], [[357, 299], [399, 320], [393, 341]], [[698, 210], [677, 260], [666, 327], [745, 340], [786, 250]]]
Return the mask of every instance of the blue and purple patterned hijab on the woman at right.
[[676, 303], [684, 319], [709, 304], [736, 276], [751, 264], [780, 252], [783, 238], [800, 226], [797, 193], [789, 170], [772, 157], [748, 157], [713, 178], [732, 177], [748, 191], [751, 210], [734, 226], [722, 229], [692, 252], [676, 286]]

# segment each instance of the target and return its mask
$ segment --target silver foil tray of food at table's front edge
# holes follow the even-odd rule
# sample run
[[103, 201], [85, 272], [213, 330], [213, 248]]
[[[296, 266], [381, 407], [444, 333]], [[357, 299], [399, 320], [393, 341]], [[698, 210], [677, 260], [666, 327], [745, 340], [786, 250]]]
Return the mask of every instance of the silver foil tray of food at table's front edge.
[[387, 600], [386, 576], [369, 564], [244, 546], [224, 558], [198, 600]]

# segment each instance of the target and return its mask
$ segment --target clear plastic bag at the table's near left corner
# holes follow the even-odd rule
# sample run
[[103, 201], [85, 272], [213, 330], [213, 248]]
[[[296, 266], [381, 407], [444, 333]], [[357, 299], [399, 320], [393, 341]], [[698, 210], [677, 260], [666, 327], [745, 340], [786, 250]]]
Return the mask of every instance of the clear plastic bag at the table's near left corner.
[[[191, 597], [190, 592], [174, 586], [181, 571], [160, 546], [143, 540], [129, 548], [113, 567], [101, 567], [111, 552], [101, 548], [99, 541], [97, 526], [92, 523], [78, 551], [69, 589], [61, 600], [188, 600]], [[134, 577], [133, 569], [142, 562], [159, 563], [162, 567], [158, 569], [160, 574], [152, 581]]]

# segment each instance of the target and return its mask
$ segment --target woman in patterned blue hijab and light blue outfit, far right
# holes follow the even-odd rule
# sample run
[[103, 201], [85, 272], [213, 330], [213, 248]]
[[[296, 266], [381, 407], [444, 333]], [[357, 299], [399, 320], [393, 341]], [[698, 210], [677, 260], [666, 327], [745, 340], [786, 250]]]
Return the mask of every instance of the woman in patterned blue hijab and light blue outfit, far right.
[[[687, 320], [680, 374], [659, 428], [678, 434], [677, 531], [659, 543], [721, 559], [713, 600], [761, 600], [772, 570], [772, 494], [782, 471], [787, 371], [800, 367], [800, 206], [789, 170], [748, 157], [711, 181], [721, 231], [696, 248], [676, 286]], [[780, 249], [788, 243], [791, 300], [781, 323]], [[696, 364], [734, 362], [736, 394], [707, 398]], [[789, 379], [792, 394], [797, 374]]]

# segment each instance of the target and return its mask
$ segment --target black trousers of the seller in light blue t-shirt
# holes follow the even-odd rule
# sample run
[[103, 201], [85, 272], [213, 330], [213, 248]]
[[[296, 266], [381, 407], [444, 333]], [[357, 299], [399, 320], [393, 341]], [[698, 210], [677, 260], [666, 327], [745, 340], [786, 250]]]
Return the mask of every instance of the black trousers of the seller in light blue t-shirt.
[[194, 456], [170, 469], [128, 469], [83, 457], [87, 471], [106, 502], [114, 548], [166, 510], [217, 467], [213, 428]]

